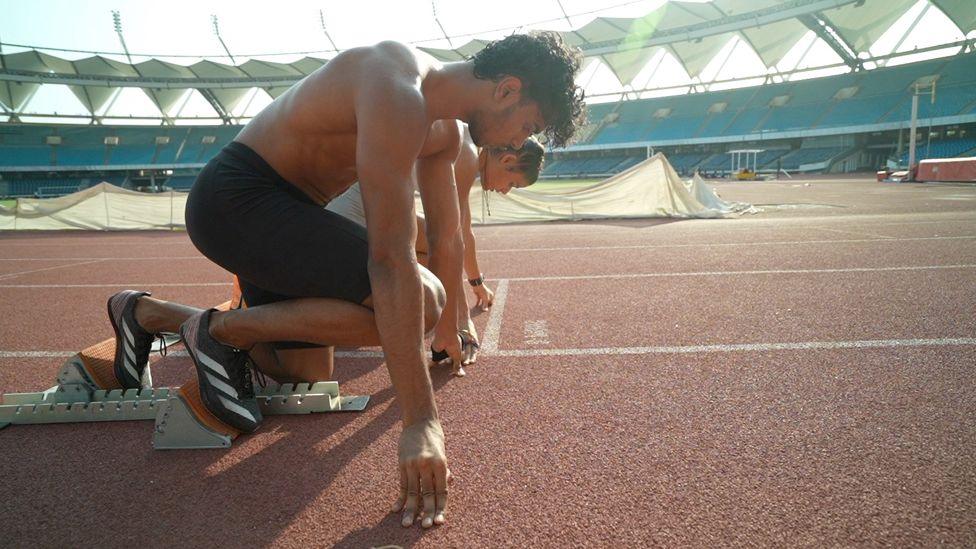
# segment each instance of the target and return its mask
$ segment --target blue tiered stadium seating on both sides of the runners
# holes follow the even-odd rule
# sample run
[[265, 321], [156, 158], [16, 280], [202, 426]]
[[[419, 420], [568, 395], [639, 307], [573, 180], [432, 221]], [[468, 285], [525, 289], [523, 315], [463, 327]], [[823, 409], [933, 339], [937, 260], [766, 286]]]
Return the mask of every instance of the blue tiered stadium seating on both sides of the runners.
[[[695, 169], [727, 171], [731, 166], [727, 151], [736, 148], [765, 149], [757, 159], [760, 169], [824, 166], [848, 150], [854, 152], [854, 147], [798, 148], [800, 140], [810, 134], [797, 132], [864, 133], [876, 131], [872, 126], [889, 124], [885, 131], [894, 133], [892, 123], [904, 128], [909, 119], [912, 84], [929, 77], [938, 78], [936, 101], [933, 104], [927, 96], [920, 98], [921, 128], [931, 125], [933, 118], [976, 113], [976, 53], [968, 53], [824, 78], [593, 104], [589, 107], [590, 121], [580, 132], [584, 137], [581, 144], [606, 150], [634, 144], [662, 147], [675, 169], [683, 174]], [[165, 185], [186, 190], [193, 184], [195, 170], [240, 129], [231, 125], [0, 124], [0, 172], [27, 172], [5, 176], [0, 192], [26, 196], [44, 194], [42, 188], [83, 188], [86, 180], [93, 178], [86, 171], [119, 174], [111, 177], [117, 177], [120, 184], [135, 185], [127, 183], [127, 175], [132, 173], [138, 178], [143, 170], [151, 169], [157, 170]], [[965, 131], [962, 133], [966, 135]], [[969, 130], [969, 135], [972, 133]], [[891, 142], [895, 141], [897, 138]], [[680, 147], [681, 152], [669, 150], [674, 147]], [[931, 145], [923, 141], [918, 155], [951, 157], [974, 149], [976, 143], [968, 137], [938, 140]], [[546, 164], [543, 175], [606, 175], [625, 170], [645, 157], [641, 152], [606, 150], [560, 155]], [[907, 162], [907, 154], [901, 161]], [[176, 175], [168, 180], [160, 175], [170, 169], [175, 169]], [[47, 171], [57, 175], [46, 174]], [[36, 178], [41, 175], [52, 175], [53, 179]], [[103, 179], [106, 178], [99, 180]]]

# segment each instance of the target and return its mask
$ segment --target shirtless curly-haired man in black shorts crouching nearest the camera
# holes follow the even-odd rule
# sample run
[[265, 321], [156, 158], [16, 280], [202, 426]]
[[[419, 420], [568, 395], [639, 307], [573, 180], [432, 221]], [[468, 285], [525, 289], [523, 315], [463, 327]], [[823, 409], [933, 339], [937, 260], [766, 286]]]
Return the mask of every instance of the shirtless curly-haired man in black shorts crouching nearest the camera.
[[[565, 144], [583, 111], [579, 65], [554, 33], [509, 36], [447, 64], [382, 42], [338, 55], [256, 116], [187, 200], [194, 245], [267, 297], [181, 326], [197, 379], [180, 398], [198, 419], [228, 434], [257, 428], [246, 365], [256, 343], [379, 342], [402, 413], [396, 508], [404, 526], [420, 513], [424, 527], [443, 523], [448, 465], [422, 346], [445, 289], [417, 264], [413, 189], [415, 177], [453, 183], [453, 174], [430, 177], [418, 157], [437, 120], [467, 122], [478, 145], [518, 148], [541, 132]], [[357, 179], [368, 231], [322, 208]], [[454, 235], [436, 244], [447, 257], [461, 245], [456, 190], [420, 191], [428, 230]], [[445, 267], [444, 286], [460, 281], [459, 267]], [[110, 309], [124, 319], [138, 299], [120, 295]]]

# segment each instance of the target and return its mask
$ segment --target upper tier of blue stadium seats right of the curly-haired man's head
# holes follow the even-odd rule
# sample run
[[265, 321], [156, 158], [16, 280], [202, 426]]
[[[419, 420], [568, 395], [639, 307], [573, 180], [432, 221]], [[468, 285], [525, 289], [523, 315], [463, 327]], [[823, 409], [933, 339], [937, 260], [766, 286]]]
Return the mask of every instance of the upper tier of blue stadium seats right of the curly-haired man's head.
[[[619, 119], [606, 124], [589, 142], [654, 144], [907, 121], [911, 114], [910, 88], [928, 76], [939, 77], [936, 103], [931, 105], [923, 98], [919, 102], [920, 118], [976, 109], [976, 53], [970, 53], [951, 60], [933, 59], [797, 82], [625, 101], [617, 107]], [[842, 89], [853, 93], [835, 98]], [[781, 104], [774, 105], [774, 100]], [[718, 103], [726, 104], [724, 111], [709, 112]], [[600, 106], [601, 113], [610, 109], [605, 104]]]

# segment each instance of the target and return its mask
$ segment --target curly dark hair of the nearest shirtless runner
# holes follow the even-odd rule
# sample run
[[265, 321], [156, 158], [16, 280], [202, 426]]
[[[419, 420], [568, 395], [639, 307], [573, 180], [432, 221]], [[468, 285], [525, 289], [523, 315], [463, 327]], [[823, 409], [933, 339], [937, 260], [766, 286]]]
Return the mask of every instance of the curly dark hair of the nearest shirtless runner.
[[490, 42], [471, 60], [477, 78], [497, 82], [514, 76], [522, 81], [523, 95], [542, 110], [550, 146], [568, 144], [585, 122], [583, 89], [575, 82], [582, 55], [555, 32], [513, 34]]

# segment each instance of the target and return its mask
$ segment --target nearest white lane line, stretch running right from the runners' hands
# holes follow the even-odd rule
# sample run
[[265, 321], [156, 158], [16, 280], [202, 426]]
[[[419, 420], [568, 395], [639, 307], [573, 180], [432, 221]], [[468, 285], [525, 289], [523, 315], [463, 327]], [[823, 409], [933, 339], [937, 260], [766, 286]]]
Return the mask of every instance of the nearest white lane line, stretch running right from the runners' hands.
[[865, 341], [803, 341], [797, 343], [739, 343], [730, 345], [682, 345], [661, 347], [603, 347], [582, 349], [502, 349], [491, 353], [500, 357], [592, 356], [735, 353], [743, 351], [805, 351], [815, 349], [879, 349], [891, 347], [947, 347], [976, 345], [976, 338], [874, 339]]

